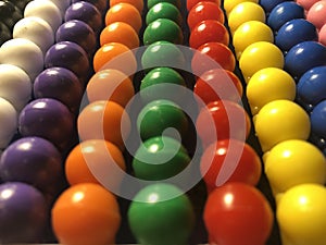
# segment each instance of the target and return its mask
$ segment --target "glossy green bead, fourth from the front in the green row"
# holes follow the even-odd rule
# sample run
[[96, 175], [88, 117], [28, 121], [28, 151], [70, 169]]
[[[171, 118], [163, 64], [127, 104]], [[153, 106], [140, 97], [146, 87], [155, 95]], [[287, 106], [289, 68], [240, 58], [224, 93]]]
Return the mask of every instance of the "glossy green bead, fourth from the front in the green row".
[[[178, 85], [179, 87], [172, 85]], [[156, 99], [176, 101], [185, 93], [184, 89], [186, 89], [186, 83], [178, 72], [171, 68], [156, 68], [142, 78], [140, 98], [145, 103]]]

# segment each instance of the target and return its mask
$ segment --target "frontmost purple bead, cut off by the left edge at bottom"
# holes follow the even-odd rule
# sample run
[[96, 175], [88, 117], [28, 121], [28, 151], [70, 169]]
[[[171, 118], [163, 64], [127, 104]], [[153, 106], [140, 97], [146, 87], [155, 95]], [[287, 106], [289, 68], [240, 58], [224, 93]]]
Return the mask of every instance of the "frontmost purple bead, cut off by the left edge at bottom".
[[41, 242], [49, 209], [38, 189], [20, 182], [1, 184], [0, 207], [0, 244]]

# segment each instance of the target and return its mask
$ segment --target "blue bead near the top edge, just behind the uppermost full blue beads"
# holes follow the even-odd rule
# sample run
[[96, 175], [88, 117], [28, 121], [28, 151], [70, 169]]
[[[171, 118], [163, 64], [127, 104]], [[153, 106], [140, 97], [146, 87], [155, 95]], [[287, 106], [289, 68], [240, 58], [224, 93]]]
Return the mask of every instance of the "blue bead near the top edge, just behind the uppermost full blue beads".
[[294, 19], [304, 19], [304, 9], [294, 1], [285, 1], [271, 11], [267, 24], [274, 32], [277, 32], [280, 26]]

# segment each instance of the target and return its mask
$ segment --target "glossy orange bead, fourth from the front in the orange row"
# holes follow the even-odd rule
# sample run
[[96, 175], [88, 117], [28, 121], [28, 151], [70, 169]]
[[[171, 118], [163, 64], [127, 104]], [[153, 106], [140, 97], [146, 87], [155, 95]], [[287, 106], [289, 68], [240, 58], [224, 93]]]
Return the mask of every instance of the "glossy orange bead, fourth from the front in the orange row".
[[89, 79], [87, 87], [89, 102], [111, 100], [125, 107], [133, 98], [133, 81], [118, 70], [105, 69], [97, 72]]

